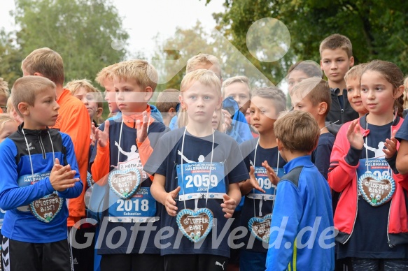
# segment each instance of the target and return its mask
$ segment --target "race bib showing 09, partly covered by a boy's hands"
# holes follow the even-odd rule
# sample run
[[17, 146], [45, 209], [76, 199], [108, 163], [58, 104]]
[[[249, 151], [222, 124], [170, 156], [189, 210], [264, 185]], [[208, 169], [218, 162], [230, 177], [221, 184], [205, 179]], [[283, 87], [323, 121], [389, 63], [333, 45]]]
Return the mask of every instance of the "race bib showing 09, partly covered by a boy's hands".
[[[272, 184], [267, 175], [267, 170], [263, 166], [257, 166], [255, 169], [255, 178], [258, 180], [260, 188], [265, 190], [265, 193], [253, 189], [251, 193], [246, 195], [248, 198], [254, 198], [257, 200], [274, 200], [275, 199], [275, 189], [276, 186]], [[273, 168], [274, 172], [278, 177], [281, 177], [285, 174], [283, 168]]]

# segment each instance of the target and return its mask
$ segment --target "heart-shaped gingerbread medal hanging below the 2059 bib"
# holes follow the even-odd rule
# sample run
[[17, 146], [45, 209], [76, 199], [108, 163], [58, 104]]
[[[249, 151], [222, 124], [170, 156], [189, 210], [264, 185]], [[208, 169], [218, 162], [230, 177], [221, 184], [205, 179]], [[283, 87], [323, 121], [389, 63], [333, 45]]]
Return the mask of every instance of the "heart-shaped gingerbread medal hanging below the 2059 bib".
[[213, 228], [213, 212], [208, 208], [202, 208], [197, 211], [183, 209], [178, 212], [178, 229], [191, 242], [199, 242], [209, 235]]

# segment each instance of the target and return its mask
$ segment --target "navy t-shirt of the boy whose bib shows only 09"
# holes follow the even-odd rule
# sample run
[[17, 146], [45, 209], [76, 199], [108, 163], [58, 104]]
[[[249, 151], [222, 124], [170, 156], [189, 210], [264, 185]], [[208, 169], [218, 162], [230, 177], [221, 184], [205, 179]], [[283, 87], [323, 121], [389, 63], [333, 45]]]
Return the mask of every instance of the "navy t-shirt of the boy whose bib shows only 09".
[[[262, 167], [262, 163], [265, 160], [268, 162], [269, 166], [271, 166], [272, 168], [276, 168], [276, 166], [278, 166], [278, 154], [279, 154], [278, 147], [274, 147], [272, 149], [264, 149], [260, 147], [260, 145], [258, 145], [258, 148], [256, 150], [256, 158], [254, 159], [255, 147], [257, 145], [257, 142], [258, 142], [258, 138], [254, 138], [252, 140], [243, 142], [241, 145], [239, 145], [239, 149], [241, 149], [241, 154], [242, 156], [244, 156], [244, 163], [246, 166], [246, 170], [248, 170], [249, 172], [250, 166]], [[282, 156], [279, 155], [279, 168], [281, 168], [282, 173], [283, 173], [283, 166], [285, 165], [286, 165], [286, 161], [283, 160]], [[265, 183], [263, 185], [260, 183], [260, 186], [262, 186], [262, 189], [264, 189], [265, 191], [267, 188], [269, 188], [269, 184], [265, 185]], [[273, 186], [273, 187], [274, 189], [276, 189], [276, 186]], [[251, 191], [248, 194], [251, 194], [251, 193], [253, 193], [253, 191]], [[260, 208], [260, 201], [262, 201], [261, 208]], [[256, 198], [255, 199], [249, 198], [248, 196], [246, 196], [244, 200], [244, 206], [242, 207], [242, 212], [241, 212], [241, 221], [240, 221], [241, 226], [248, 228], [248, 221], [251, 218], [260, 217], [260, 216], [263, 217], [265, 216], [265, 214], [272, 214], [273, 205], [274, 205], [274, 200], [260, 200]], [[261, 212], [260, 212], [260, 209], [261, 209]], [[267, 243], [262, 244], [262, 241], [255, 238], [253, 245], [252, 245], [251, 242], [248, 242], [248, 240], [250, 240], [250, 237], [251, 237], [251, 232], [248, 229], [248, 234], [241, 240], [241, 242], [244, 242], [245, 244], [245, 246], [242, 247], [241, 249], [247, 249], [249, 251], [267, 253], [268, 251]], [[253, 237], [251, 238], [253, 239]]]

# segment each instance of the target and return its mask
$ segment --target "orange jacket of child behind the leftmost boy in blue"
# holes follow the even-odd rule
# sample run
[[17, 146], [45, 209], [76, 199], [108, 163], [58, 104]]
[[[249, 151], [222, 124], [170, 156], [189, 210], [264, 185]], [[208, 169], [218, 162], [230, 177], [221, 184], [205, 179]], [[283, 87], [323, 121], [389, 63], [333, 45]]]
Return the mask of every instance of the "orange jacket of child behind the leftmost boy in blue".
[[71, 137], [76, 160], [78, 161], [80, 180], [83, 182], [83, 191], [80, 196], [67, 200], [69, 210], [68, 226], [71, 227], [81, 217], [85, 217], [84, 195], [89, 162], [91, 121], [85, 105], [78, 98], [72, 96], [68, 89], [64, 89], [57, 99], [57, 103], [60, 106], [59, 115], [55, 126], [52, 126], [52, 128], [59, 129], [59, 131], [67, 133]]

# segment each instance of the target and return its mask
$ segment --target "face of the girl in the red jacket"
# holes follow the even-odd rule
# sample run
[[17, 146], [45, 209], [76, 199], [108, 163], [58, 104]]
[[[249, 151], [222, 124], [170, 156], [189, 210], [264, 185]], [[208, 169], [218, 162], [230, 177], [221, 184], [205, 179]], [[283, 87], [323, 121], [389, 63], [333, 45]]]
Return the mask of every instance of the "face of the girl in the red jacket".
[[373, 115], [384, 115], [393, 112], [393, 85], [378, 71], [366, 71], [361, 75], [361, 99], [363, 105]]

